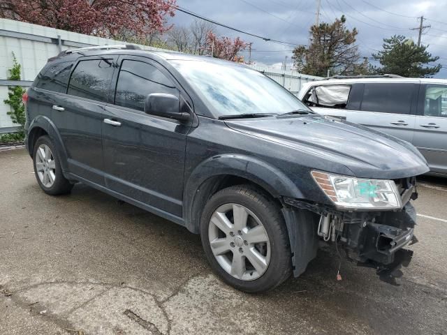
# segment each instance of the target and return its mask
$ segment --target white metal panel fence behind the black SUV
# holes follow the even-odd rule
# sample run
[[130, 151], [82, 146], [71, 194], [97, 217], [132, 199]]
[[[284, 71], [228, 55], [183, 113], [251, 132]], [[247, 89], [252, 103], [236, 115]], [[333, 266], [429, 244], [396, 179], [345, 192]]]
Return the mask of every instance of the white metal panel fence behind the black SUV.
[[[78, 47], [91, 47], [94, 45], [117, 45], [122, 41], [99, 38], [95, 36], [73, 33], [54, 28], [38, 26], [25, 22], [0, 19], [0, 134], [17, 131], [8, 114], [10, 106], [3, 100], [8, 97], [8, 86], [29, 87], [47, 59], [54, 57], [62, 50]], [[162, 50], [147, 45], [139, 45], [143, 50]], [[19, 64], [22, 65], [22, 80], [6, 80], [8, 69], [13, 66], [13, 53]], [[300, 73], [274, 70], [263, 66], [251, 66], [265, 73], [273, 80], [279, 82], [297, 94], [305, 82], [318, 80], [319, 77], [302, 75]]]

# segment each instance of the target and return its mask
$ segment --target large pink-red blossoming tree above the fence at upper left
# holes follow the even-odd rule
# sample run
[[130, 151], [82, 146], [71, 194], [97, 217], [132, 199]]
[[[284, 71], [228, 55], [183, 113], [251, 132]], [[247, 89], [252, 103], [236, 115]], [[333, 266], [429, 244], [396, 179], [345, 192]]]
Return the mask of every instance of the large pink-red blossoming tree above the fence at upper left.
[[175, 0], [1, 0], [0, 17], [106, 38], [163, 33]]

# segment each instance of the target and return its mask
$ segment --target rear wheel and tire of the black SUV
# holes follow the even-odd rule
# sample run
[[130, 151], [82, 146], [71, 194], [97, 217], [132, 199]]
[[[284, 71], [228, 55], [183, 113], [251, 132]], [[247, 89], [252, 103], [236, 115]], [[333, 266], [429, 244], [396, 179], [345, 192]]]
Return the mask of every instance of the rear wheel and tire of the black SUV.
[[59, 157], [50, 137], [43, 135], [34, 144], [34, 174], [42, 190], [50, 195], [61, 195], [71, 191], [73, 184], [62, 173]]

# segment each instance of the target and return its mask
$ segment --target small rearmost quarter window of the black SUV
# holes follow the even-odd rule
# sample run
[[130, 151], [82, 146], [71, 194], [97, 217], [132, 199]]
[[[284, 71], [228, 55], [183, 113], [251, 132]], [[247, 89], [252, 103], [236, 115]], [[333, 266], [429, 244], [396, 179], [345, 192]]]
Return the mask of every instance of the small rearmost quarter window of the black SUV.
[[73, 68], [73, 62], [64, 62], [50, 66], [44, 73], [39, 73], [36, 87], [65, 93], [71, 68]]

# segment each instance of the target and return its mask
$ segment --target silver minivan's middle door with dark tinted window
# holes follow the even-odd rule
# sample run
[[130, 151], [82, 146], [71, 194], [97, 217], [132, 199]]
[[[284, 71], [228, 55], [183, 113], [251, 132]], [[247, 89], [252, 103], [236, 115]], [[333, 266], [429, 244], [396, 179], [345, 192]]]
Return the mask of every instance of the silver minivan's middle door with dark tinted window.
[[358, 111], [346, 119], [411, 142], [416, 122], [418, 84], [374, 82], [359, 84], [362, 96]]

